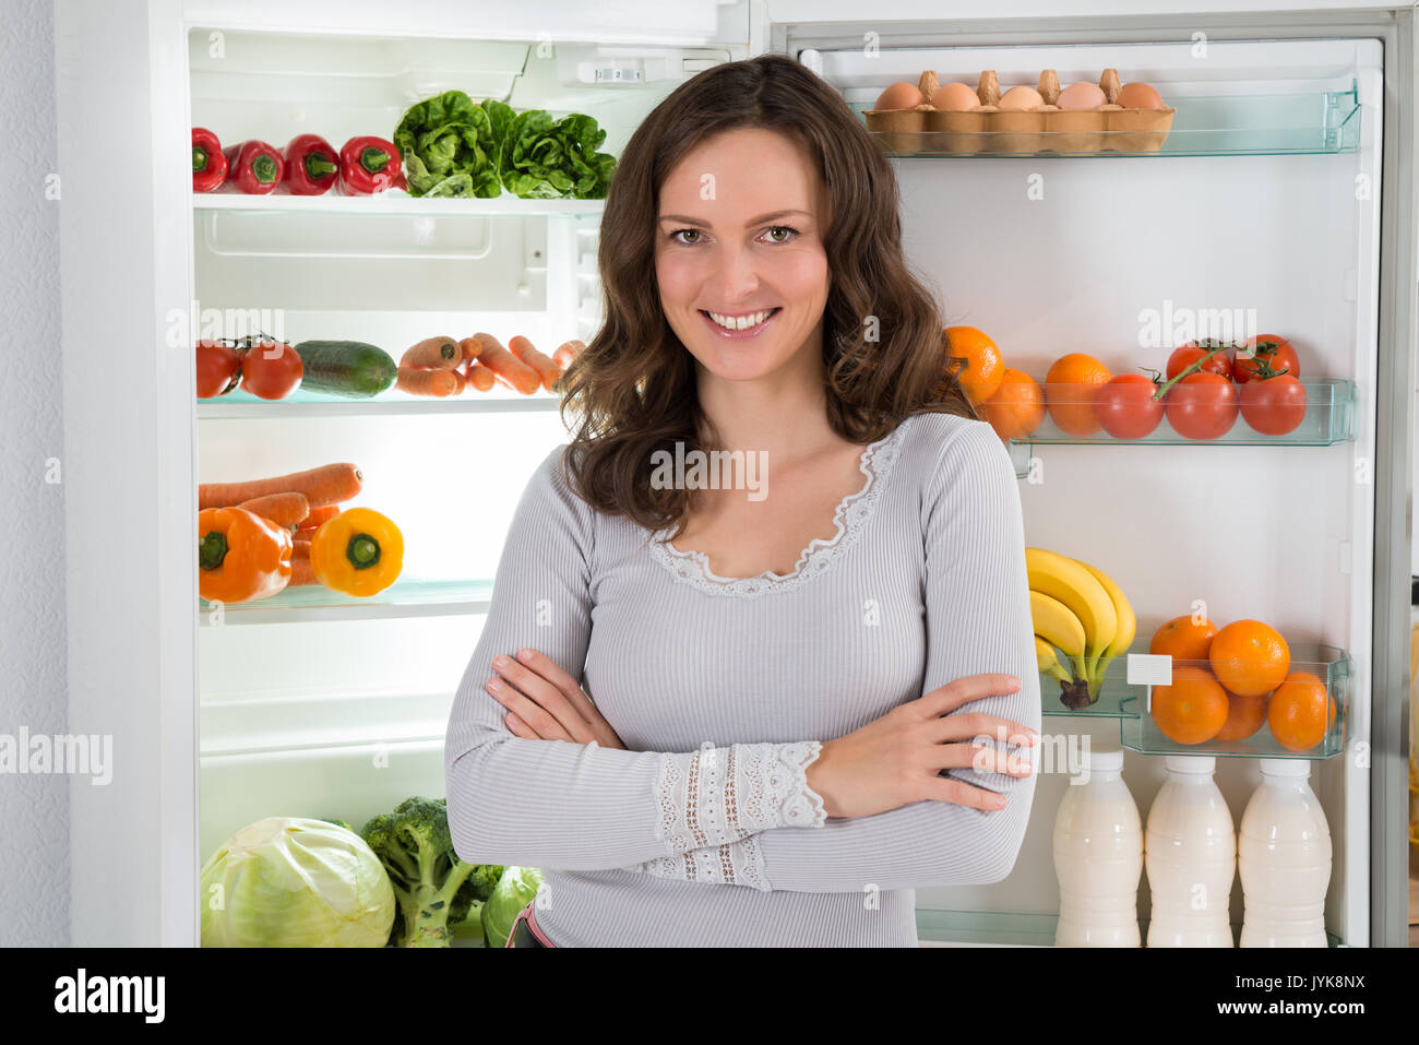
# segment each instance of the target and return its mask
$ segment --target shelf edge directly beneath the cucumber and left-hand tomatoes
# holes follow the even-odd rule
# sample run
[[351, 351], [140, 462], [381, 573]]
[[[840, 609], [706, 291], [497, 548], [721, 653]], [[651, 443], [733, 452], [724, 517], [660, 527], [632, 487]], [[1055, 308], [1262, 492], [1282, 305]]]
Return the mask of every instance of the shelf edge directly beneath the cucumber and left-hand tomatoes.
[[402, 415], [402, 413], [517, 413], [552, 412], [559, 409], [562, 399], [552, 392], [535, 392], [529, 396], [509, 389], [495, 388], [491, 392], [463, 392], [454, 396], [412, 396], [407, 392], [389, 389], [369, 399], [328, 396], [319, 392], [297, 389], [285, 399], [260, 399], [241, 389], [216, 399], [197, 400], [197, 420], [207, 419], [267, 419], [284, 417], [355, 417], [359, 415]]

